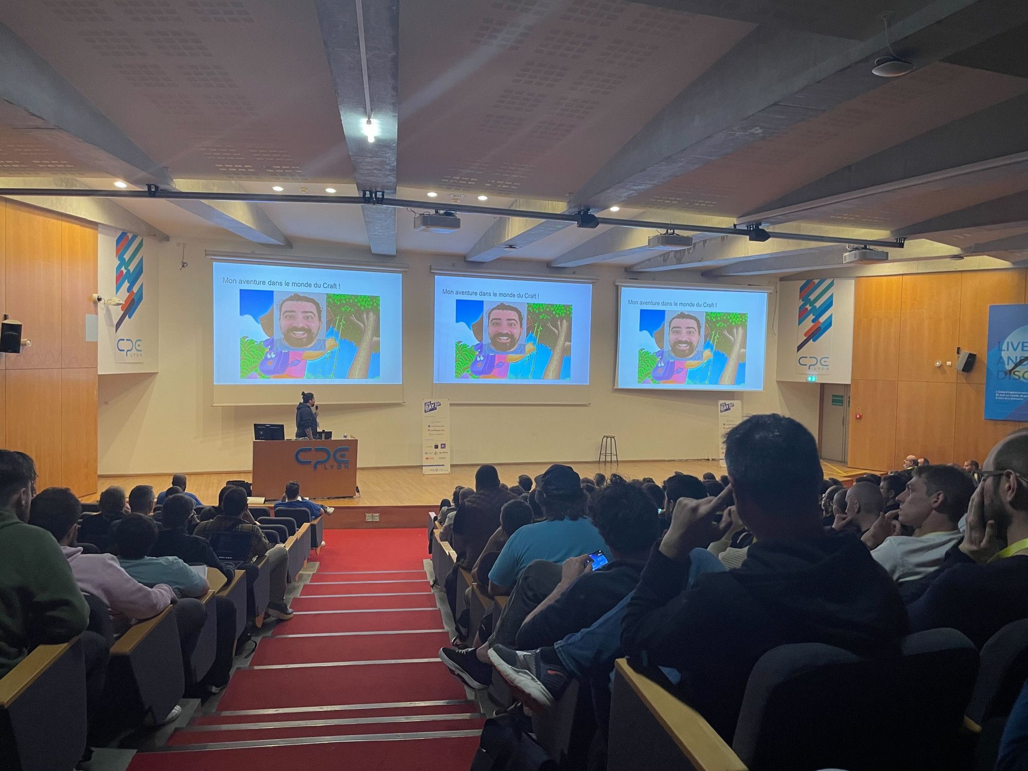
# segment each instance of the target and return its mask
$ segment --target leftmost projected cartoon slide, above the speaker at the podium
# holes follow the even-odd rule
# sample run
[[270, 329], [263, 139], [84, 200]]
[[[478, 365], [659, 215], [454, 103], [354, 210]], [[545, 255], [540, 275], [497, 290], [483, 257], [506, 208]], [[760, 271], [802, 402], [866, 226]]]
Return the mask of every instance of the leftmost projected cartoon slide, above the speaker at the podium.
[[400, 273], [213, 264], [216, 386], [401, 381]]

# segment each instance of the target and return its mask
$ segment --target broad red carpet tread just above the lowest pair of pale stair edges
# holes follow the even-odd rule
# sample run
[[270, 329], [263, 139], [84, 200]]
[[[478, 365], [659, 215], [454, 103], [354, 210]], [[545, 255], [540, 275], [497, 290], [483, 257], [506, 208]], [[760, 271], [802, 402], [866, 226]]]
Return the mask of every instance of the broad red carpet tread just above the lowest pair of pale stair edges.
[[222, 711], [289, 709], [321, 704], [465, 698], [464, 687], [446, 667], [439, 661], [428, 661], [297, 669], [237, 669], [218, 708]]

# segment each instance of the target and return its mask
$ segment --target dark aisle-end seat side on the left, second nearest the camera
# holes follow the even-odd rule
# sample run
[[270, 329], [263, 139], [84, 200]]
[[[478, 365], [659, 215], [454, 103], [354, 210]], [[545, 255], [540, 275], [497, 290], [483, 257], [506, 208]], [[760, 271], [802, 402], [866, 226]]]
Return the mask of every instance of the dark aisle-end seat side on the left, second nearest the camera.
[[[111, 647], [107, 689], [115, 725], [163, 720], [185, 692], [174, 608], [130, 627]], [[172, 664], [176, 664], [173, 666]]]

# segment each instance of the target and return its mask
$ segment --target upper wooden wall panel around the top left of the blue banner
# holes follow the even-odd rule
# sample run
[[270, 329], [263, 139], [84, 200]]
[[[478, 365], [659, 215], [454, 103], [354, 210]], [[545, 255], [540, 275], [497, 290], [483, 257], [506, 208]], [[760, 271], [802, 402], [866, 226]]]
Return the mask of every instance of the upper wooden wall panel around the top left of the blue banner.
[[960, 276], [960, 331], [957, 344], [978, 354], [970, 372], [957, 372], [958, 382], [985, 382], [989, 336], [989, 305], [1025, 301], [1028, 270], [967, 270]]

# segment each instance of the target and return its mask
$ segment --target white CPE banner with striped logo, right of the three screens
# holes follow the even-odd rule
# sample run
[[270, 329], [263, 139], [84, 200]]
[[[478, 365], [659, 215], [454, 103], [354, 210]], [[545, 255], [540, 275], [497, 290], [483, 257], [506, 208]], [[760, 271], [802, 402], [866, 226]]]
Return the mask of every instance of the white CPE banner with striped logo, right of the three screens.
[[778, 283], [778, 379], [850, 381], [852, 279]]

